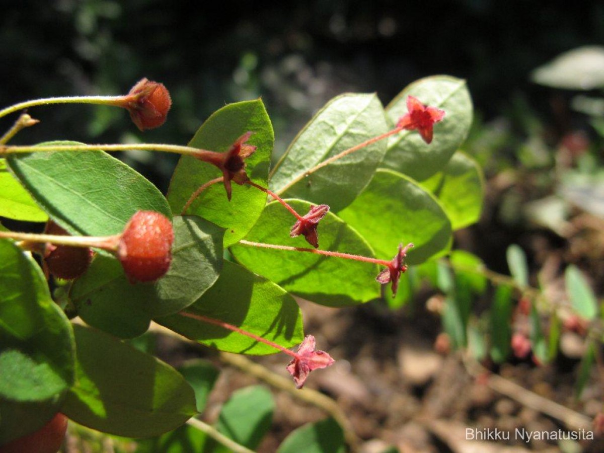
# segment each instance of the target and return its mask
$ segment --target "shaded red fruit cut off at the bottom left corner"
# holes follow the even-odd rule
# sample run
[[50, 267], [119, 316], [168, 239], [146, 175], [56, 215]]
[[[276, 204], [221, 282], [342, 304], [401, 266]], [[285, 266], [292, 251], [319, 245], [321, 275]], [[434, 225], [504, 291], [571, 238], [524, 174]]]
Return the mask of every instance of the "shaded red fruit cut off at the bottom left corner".
[[67, 417], [57, 413], [36, 432], [0, 446], [0, 453], [57, 453], [67, 429]]

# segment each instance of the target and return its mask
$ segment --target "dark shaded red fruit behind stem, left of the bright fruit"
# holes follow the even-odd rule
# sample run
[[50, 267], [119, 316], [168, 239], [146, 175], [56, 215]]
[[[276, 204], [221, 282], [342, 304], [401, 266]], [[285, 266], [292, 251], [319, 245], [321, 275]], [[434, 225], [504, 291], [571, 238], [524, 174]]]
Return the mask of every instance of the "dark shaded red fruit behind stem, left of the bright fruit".
[[[68, 236], [68, 233], [56, 223], [49, 221], [45, 230], [47, 234]], [[92, 259], [92, 250], [86, 247], [47, 244], [44, 262], [48, 271], [55, 277], [71, 280], [80, 277]]]

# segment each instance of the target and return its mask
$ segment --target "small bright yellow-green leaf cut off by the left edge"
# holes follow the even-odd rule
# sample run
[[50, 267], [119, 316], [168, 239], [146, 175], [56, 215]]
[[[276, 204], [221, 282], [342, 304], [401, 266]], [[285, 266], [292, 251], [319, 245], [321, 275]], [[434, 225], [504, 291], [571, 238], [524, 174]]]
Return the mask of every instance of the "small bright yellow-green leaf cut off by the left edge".
[[46, 222], [48, 220], [47, 214], [8, 172], [5, 159], [0, 159], [0, 217], [27, 222]]

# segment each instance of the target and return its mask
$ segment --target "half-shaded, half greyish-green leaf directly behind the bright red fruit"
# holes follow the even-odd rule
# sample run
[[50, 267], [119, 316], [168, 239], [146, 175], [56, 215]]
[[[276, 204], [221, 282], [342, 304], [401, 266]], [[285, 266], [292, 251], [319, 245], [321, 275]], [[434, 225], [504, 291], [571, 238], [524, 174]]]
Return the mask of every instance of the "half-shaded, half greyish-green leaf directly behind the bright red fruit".
[[132, 284], [116, 259], [94, 259], [70, 292], [86, 323], [132, 338], [145, 332], [154, 316], [184, 309], [214, 284], [222, 267], [222, 228], [196, 216], [176, 216], [173, 226], [172, 264], [155, 283]]

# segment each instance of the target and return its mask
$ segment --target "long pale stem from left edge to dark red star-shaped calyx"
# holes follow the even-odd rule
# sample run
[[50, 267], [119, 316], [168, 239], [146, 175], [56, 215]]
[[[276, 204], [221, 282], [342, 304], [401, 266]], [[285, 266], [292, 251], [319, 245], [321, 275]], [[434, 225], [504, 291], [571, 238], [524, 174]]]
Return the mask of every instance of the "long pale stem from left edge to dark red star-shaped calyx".
[[193, 156], [213, 163], [217, 158], [222, 159], [222, 153], [193, 148], [190, 146], [178, 146], [160, 143], [132, 143], [132, 144], [106, 144], [106, 145], [43, 145], [43, 146], [0, 146], [0, 156], [13, 153], [39, 153], [54, 151], [162, 151]]

